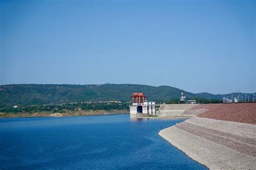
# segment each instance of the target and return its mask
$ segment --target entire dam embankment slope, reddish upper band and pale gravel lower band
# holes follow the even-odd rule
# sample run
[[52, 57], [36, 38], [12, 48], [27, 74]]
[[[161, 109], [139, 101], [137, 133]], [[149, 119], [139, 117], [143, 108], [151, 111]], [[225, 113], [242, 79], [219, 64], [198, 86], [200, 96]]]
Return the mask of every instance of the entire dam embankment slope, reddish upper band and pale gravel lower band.
[[210, 169], [256, 169], [256, 103], [202, 104], [194, 109], [202, 108], [208, 111], [159, 135]]

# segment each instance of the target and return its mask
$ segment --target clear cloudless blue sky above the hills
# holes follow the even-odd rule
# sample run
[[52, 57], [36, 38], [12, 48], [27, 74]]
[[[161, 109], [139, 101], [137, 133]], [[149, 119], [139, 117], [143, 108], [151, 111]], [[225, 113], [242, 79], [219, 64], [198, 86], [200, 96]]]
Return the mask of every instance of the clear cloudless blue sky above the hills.
[[0, 4], [0, 84], [256, 92], [255, 1]]

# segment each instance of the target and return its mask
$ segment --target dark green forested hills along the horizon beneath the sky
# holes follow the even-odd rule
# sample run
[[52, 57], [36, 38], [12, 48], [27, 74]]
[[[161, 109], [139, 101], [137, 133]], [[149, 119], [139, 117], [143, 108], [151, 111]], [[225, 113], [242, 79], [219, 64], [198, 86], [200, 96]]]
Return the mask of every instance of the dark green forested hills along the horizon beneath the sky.
[[[147, 86], [141, 84], [8, 84], [0, 86], [1, 105], [33, 105], [50, 103], [71, 103], [86, 101], [131, 101], [133, 92], [143, 92], [149, 101], [165, 102], [180, 98], [181, 89], [170, 86]], [[187, 98], [222, 99], [223, 96], [210, 93], [193, 94], [184, 91]], [[245, 94], [240, 94], [245, 95]], [[252, 94], [247, 94], [252, 98]]]

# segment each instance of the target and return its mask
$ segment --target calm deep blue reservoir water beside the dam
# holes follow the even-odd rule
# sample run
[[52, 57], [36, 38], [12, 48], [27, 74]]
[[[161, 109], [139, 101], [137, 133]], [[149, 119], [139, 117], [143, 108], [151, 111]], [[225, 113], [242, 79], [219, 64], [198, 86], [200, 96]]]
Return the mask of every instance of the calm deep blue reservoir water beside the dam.
[[0, 119], [0, 169], [206, 169], [129, 115]]

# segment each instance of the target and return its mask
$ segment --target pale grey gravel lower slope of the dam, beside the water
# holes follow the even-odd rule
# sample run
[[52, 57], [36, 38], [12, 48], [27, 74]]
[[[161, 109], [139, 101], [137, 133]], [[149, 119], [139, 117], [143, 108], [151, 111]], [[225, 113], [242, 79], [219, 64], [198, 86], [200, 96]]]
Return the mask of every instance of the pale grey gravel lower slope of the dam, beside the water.
[[210, 169], [256, 169], [256, 125], [193, 117], [159, 135]]

